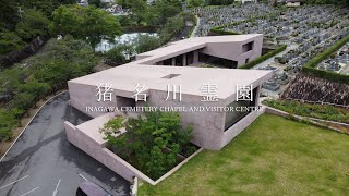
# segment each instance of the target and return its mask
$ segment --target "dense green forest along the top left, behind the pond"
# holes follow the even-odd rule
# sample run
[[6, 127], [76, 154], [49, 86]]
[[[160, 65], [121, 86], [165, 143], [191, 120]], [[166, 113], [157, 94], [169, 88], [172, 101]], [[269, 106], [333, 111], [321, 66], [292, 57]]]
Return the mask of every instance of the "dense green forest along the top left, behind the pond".
[[[105, 5], [100, 0], [91, 0], [89, 2], [96, 9]], [[166, 26], [168, 19], [181, 12], [181, 1], [179, 0], [157, 0], [154, 5], [148, 5], [145, 0], [117, 0], [116, 2], [132, 11], [132, 14], [119, 17], [122, 27], [158, 29]], [[86, 25], [91, 22], [88, 16], [93, 22], [97, 21], [96, 15], [100, 20], [109, 22], [106, 24], [111, 24], [112, 21], [106, 15], [107, 12], [103, 13], [92, 7], [74, 7], [76, 0], [0, 0], [0, 56], [22, 49], [37, 36], [70, 34], [80, 39], [86, 36], [91, 37], [91, 25]], [[104, 24], [100, 23], [98, 32], [106, 30], [100, 29], [105, 26]], [[178, 26], [181, 27], [181, 25]], [[98, 35], [97, 40], [88, 41], [96, 45], [100, 37]]]

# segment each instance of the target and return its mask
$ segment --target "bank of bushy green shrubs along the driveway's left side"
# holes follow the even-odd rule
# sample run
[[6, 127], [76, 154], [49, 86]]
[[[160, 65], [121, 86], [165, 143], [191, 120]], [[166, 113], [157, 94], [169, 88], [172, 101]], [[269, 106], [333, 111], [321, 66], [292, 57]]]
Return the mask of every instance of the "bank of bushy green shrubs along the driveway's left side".
[[[1, 36], [1, 35], [0, 35]], [[1, 41], [0, 41], [1, 42]], [[13, 66], [0, 74], [1, 91], [14, 96], [11, 111], [0, 110], [0, 140], [10, 139], [17, 120], [35, 102], [61, 87], [68, 79], [86, 75], [98, 63], [91, 46], [82, 40], [65, 36], [50, 40], [39, 56], [31, 57], [31, 66]], [[24, 72], [25, 71], [25, 72]]]

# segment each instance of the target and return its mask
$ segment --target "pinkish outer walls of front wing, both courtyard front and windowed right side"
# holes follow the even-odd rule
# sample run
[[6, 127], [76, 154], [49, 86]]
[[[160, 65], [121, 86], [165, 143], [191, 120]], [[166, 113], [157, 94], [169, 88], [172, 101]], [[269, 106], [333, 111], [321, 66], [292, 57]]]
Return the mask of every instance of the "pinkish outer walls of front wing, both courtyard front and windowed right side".
[[[255, 84], [253, 84], [253, 88], [257, 86], [260, 86], [261, 88], [261, 85], [262, 81], [256, 81]], [[96, 96], [94, 96], [96, 94], [96, 88], [93, 86], [70, 84], [69, 87], [71, 105], [91, 117], [96, 118], [98, 115], [105, 114], [106, 112], [86, 112], [86, 106], [118, 106], [116, 97], [112, 99], [112, 102], [96, 101]], [[113, 91], [113, 95], [119, 96], [119, 93], [120, 91]], [[123, 95], [130, 96], [121, 93], [121, 96]], [[219, 102], [203, 102], [201, 101], [201, 96], [192, 96], [185, 94], [182, 94], [182, 101], [179, 101], [178, 99], [172, 100], [172, 97], [170, 97], [170, 99], [166, 101], [167, 91], [160, 90], [149, 90], [147, 95], [151, 96], [148, 96], [145, 103], [149, 107], [185, 107], [186, 109], [196, 107], [197, 109], [200, 109], [200, 107], [226, 107], [230, 102], [236, 100], [236, 95], [231, 95], [226, 100], [219, 100]], [[179, 98], [179, 95], [177, 96], [177, 98]], [[258, 102], [258, 100], [256, 100], [256, 102]], [[144, 106], [145, 103], [143, 101], [139, 101], [136, 102], [136, 106], [140, 107]], [[192, 143], [200, 147], [213, 150], [221, 149], [260, 115], [258, 112], [252, 112], [225, 132], [225, 112], [180, 111], [180, 114], [183, 125], [192, 124], [193, 126]]]

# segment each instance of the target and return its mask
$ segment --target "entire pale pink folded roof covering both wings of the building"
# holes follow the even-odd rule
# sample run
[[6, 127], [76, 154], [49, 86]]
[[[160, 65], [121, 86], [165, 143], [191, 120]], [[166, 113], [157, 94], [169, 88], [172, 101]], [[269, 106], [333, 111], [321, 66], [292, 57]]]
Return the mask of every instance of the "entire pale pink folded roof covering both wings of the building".
[[[111, 84], [116, 90], [132, 93], [136, 85], [145, 86], [144, 91], [164, 90], [167, 85], [181, 85], [182, 94], [202, 96], [201, 87], [204, 84], [217, 85], [217, 98], [226, 99], [236, 94], [236, 86], [251, 85], [261, 79], [266, 81], [272, 76], [272, 71], [265, 70], [239, 70], [239, 69], [213, 69], [193, 66], [147, 65], [146, 63], [165, 56], [205, 47], [209, 42], [246, 41], [261, 34], [195, 37], [170, 44], [139, 56], [144, 59], [133, 61], [117, 68], [86, 75], [70, 81], [92, 86]], [[164, 78], [170, 74], [177, 74], [173, 78]]]

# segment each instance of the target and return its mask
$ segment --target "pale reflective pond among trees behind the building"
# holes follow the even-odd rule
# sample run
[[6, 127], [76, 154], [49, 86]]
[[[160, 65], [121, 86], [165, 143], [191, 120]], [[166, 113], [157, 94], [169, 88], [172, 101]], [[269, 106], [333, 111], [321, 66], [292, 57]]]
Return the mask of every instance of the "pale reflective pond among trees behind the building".
[[127, 34], [122, 34], [119, 37], [116, 37], [116, 41], [115, 42], [110, 42], [108, 40], [103, 40], [101, 42], [99, 42], [96, 48], [95, 51], [97, 52], [107, 52], [110, 49], [115, 48], [116, 45], [118, 44], [127, 44], [127, 42], [134, 42], [135, 39], [140, 36], [140, 35], [151, 35], [151, 36], [157, 36], [157, 33], [127, 33]]

